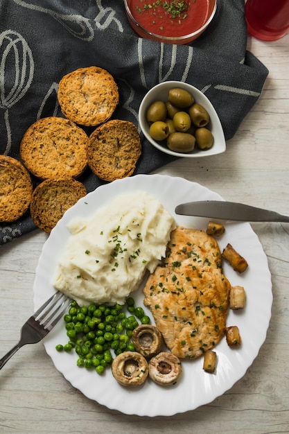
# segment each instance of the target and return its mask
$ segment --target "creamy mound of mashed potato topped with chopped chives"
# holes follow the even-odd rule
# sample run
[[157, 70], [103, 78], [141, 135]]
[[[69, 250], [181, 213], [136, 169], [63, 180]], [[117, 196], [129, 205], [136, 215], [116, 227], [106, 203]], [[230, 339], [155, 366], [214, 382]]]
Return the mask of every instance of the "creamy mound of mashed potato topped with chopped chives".
[[166, 254], [175, 220], [147, 193], [119, 196], [90, 219], [73, 219], [58, 262], [55, 288], [76, 300], [124, 304]]

